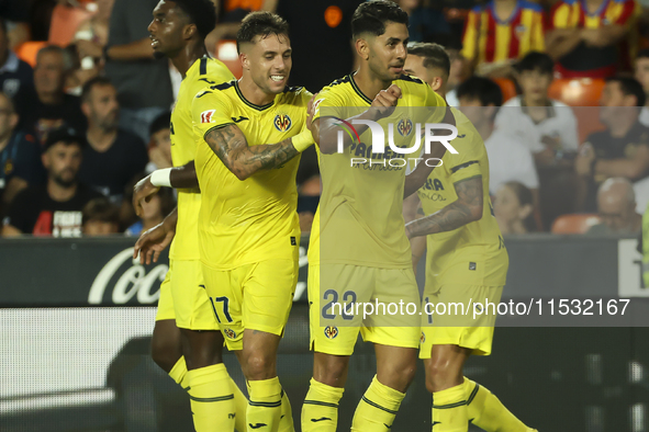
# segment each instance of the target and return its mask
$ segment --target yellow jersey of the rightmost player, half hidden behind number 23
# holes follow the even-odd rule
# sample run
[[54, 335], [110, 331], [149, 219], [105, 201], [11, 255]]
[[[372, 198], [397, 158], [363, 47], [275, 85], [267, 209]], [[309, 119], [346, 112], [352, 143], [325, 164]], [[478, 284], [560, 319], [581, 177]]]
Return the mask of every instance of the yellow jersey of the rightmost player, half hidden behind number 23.
[[452, 110], [458, 137], [450, 141], [458, 155], [447, 151], [417, 194], [430, 215], [458, 198], [455, 183], [482, 177], [482, 218], [426, 239], [426, 281], [436, 284], [505, 285], [510, 259], [489, 196], [489, 160], [484, 141], [469, 118]]

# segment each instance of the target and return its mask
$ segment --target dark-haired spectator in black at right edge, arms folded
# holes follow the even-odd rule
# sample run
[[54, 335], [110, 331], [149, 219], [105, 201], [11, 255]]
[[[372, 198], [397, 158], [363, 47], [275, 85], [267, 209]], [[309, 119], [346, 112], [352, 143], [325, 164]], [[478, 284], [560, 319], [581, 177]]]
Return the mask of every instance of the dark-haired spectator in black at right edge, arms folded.
[[589, 135], [574, 163], [579, 208], [586, 212], [596, 209], [596, 191], [604, 180], [622, 177], [637, 182], [649, 173], [649, 128], [639, 122], [642, 86], [630, 77], [608, 78], [600, 104], [606, 129]]

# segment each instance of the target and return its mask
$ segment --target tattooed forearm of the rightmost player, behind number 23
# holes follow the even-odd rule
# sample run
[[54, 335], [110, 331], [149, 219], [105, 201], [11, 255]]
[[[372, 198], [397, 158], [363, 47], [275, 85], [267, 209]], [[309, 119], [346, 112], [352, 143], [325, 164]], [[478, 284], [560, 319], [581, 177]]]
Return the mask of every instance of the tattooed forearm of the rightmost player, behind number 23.
[[460, 180], [455, 184], [458, 198], [432, 215], [406, 224], [409, 238], [445, 232], [480, 220], [482, 217], [482, 175]]

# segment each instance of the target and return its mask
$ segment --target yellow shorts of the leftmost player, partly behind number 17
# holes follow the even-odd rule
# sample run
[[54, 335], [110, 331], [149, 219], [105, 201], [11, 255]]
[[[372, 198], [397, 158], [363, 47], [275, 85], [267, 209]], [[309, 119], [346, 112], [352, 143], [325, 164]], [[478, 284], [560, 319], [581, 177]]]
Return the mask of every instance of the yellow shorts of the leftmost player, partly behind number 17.
[[170, 277], [176, 326], [190, 330], [219, 330], [210, 298], [205, 293], [201, 262], [169, 260], [167, 277]]

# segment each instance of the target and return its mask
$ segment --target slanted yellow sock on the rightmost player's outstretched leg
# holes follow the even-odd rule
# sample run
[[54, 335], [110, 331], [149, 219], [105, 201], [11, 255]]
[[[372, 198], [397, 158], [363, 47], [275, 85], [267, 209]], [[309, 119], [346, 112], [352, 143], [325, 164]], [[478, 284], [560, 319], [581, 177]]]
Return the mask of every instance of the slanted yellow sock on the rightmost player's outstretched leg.
[[465, 395], [469, 420], [478, 428], [486, 432], [529, 431], [495, 395], [469, 378], [465, 378]]

